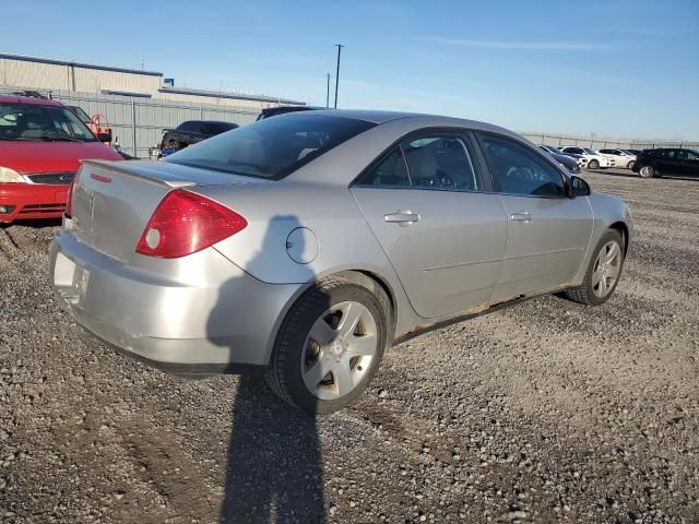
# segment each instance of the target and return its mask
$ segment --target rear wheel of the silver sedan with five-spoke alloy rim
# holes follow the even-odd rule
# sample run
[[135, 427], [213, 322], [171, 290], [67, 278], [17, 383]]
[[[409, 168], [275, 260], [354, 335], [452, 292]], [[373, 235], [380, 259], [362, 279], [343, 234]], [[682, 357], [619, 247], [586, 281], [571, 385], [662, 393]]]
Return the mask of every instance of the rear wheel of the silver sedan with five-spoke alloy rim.
[[[357, 311], [363, 317], [358, 317], [355, 327], [344, 333], [343, 338], [343, 318], [347, 314], [347, 319], [352, 319]], [[383, 350], [391, 340], [391, 317], [388, 295], [380, 285], [363, 274], [341, 273], [318, 281], [286, 314], [276, 337], [265, 382], [280, 398], [309, 414], [324, 415], [342, 409], [362, 394], [376, 374]], [[337, 323], [336, 327], [331, 326], [334, 322]], [[313, 334], [316, 326], [323, 336], [337, 336], [321, 344], [313, 340], [320, 338]], [[366, 344], [362, 347], [370, 346], [371, 336], [376, 341], [371, 355], [350, 357], [353, 348], [356, 350], [360, 344]], [[353, 341], [363, 342], [355, 347]], [[328, 372], [324, 373], [324, 370]], [[321, 374], [324, 379], [316, 384], [317, 377]], [[307, 382], [311, 385], [307, 385]]]

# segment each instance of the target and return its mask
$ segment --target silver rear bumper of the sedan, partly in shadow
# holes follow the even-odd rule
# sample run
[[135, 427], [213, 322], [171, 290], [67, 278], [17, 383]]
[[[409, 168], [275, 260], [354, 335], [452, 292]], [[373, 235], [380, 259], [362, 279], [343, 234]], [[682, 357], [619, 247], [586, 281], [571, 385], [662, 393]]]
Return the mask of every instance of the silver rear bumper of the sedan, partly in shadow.
[[263, 370], [300, 286], [257, 281], [213, 249], [190, 257], [201, 272], [193, 284], [126, 265], [61, 231], [50, 274], [75, 321], [131, 357], [180, 373]]

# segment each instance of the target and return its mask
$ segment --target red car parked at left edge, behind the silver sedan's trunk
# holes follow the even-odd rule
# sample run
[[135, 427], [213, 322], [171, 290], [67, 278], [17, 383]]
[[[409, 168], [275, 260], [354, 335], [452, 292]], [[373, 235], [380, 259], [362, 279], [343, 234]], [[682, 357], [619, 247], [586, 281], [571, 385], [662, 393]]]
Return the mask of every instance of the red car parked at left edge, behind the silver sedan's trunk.
[[60, 217], [83, 158], [123, 159], [67, 106], [0, 95], [0, 223]]

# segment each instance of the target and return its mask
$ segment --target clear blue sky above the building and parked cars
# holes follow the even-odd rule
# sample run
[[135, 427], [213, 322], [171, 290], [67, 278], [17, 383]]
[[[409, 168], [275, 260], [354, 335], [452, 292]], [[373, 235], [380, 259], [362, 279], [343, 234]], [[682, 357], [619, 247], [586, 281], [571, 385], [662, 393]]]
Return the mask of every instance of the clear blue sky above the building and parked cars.
[[342, 43], [340, 107], [699, 140], [699, 0], [23, 0], [2, 12], [0, 51], [143, 59], [188, 87], [324, 105]]

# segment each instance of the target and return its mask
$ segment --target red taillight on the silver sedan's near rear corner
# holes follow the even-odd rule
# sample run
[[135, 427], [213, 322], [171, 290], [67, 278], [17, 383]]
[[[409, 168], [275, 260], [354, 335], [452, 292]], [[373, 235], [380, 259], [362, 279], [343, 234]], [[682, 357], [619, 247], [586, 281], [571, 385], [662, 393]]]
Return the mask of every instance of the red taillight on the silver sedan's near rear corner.
[[247, 225], [248, 221], [218, 202], [176, 189], [155, 209], [135, 252], [177, 259], [213, 246]]

